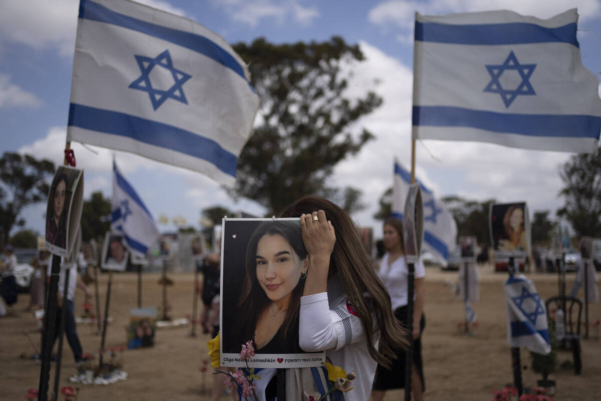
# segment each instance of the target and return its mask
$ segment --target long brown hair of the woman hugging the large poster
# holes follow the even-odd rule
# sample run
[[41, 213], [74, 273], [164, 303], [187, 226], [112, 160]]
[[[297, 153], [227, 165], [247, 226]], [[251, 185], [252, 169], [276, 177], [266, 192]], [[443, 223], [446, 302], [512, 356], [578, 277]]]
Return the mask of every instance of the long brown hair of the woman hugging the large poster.
[[[338, 273], [344, 292], [365, 330], [365, 343], [371, 357], [380, 365], [390, 367], [390, 361], [396, 358], [395, 349], [406, 347], [407, 331], [392, 314], [390, 295], [371, 268], [349, 215], [331, 201], [308, 195], [288, 206], [282, 217], [300, 217], [302, 213], [311, 214], [317, 210], [326, 213], [326, 219], [336, 230], [328, 278]], [[374, 334], [379, 335], [379, 349], [374, 344]]]

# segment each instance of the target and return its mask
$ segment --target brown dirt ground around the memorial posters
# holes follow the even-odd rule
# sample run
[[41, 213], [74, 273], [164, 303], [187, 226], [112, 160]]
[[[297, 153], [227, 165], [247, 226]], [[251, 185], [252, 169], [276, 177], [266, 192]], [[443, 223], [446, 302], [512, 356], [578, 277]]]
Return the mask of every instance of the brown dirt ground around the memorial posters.
[[[481, 266], [480, 302], [475, 304], [480, 327], [474, 337], [464, 337], [457, 328], [463, 320], [462, 302], [451, 290], [450, 283], [457, 280], [457, 272], [442, 272], [439, 268], [426, 269], [426, 329], [423, 334], [424, 373], [427, 400], [491, 400], [492, 391], [513, 381], [510, 347], [507, 344], [506, 312], [503, 282], [506, 274], [494, 273], [491, 266]], [[174, 285], [168, 287], [172, 317], [186, 317], [192, 312], [194, 290], [193, 274], [171, 274]], [[557, 295], [555, 274], [528, 274], [534, 280], [543, 299]], [[158, 274], [145, 274], [142, 286], [142, 306], [161, 304], [162, 287], [157, 284]], [[567, 276], [570, 289], [574, 274]], [[100, 277], [100, 302], [105, 305], [108, 275]], [[90, 287], [93, 290], [93, 284]], [[583, 296], [582, 293], [579, 296]], [[76, 293], [76, 316], [82, 314], [84, 296]], [[29, 295], [20, 294], [16, 317], [0, 318], [0, 400], [24, 399], [28, 388], [38, 388], [40, 364], [20, 354], [31, 355], [34, 347], [24, 334], [27, 332], [36, 346], [40, 334], [35, 331], [32, 313], [24, 312]], [[129, 309], [137, 305], [136, 274], [115, 274], [112, 285], [110, 315], [114, 320], [108, 327], [106, 347], [126, 342], [124, 326], [129, 322]], [[96, 305], [94, 305], [94, 308]], [[601, 305], [589, 307], [590, 320], [601, 319]], [[583, 318], [584, 319], [584, 318]], [[100, 336], [95, 325], [78, 325], [79, 338], [84, 352], [96, 352]], [[156, 344], [150, 349], [126, 350], [123, 354], [126, 381], [111, 385], [78, 385], [79, 400], [208, 400], [209, 372], [199, 367], [208, 360], [206, 341], [209, 335], [197, 328], [197, 337], [191, 337], [191, 326], [158, 329]], [[590, 334], [593, 334], [592, 332]], [[591, 335], [591, 337], [593, 337]], [[581, 375], [573, 370], [562, 370], [551, 375], [557, 381], [555, 400], [601, 400], [601, 340], [589, 338], [582, 341], [583, 369]], [[572, 361], [567, 350], [559, 352], [560, 363]], [[530, 369], [529, 353], [522, 350], [523, 382], [526, 387], [536, 384], [539, 376]], [[54, 366], [50, 372], [50, 388], [54, 381]], [[65, 341], [60, 386], [76, 385], [69, 382], [75, 373], [73, 354]], [[403, 399], [403, 391], [389, 391], [386, 400]], [[60, 398], [62, 400], [62, 396]], [[223, 396], [222, 400], [229, 400]]]

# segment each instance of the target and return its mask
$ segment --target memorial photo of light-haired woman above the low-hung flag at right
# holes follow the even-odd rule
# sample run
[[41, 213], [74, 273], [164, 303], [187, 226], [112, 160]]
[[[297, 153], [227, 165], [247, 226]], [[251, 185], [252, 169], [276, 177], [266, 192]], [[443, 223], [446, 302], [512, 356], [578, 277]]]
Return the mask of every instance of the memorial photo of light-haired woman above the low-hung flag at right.
[[530, 223], [525, 202], [490, 205], [490, 238], [495, 253], [525, 257], [530, 253]]

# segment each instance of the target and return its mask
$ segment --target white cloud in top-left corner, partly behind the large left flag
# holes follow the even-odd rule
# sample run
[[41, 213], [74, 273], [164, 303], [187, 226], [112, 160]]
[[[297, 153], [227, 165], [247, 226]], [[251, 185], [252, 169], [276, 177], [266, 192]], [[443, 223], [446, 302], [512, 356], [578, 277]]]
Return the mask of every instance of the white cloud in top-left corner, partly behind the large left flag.
[[[166, 1], [139, 2], [172, 14], [185, 15], [183, 10]], [[35, 49], [58, 48], [59, 54], [72, 55], [78, 10], [78, 0], [2, 1], [0, 40], [26, 44]]]

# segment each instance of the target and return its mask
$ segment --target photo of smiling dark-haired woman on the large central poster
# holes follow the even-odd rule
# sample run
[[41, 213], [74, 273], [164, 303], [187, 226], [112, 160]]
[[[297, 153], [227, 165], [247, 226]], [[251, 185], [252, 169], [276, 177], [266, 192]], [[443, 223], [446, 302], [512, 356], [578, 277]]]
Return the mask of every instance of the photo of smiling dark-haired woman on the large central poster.
[[[239, 294], [235, 303], [231, 303], [233, 299], [230, 299], [234, 311], [239, 313], [232, 316], [228, 311], [230, 308], [224, 307], [223, 310], [223, 349], [225, 353], [239, 354], [242, 344], [254, 338], [257, 360], [261, 359], [262, 354], [272, 354], [274, 357], [272, 363], [267, 361], [266, 364], [256, 366], [290, 366], [283, 361], [278, 362], [277, 358], [281, 360], [286, 354], [306, 354], [299, 346], [298, 337], [301, 296], [309, 268], [301, 226], [297, 219], [245, 220], [227, 221], [227, 224], [237, 223], [239, 228], [236, 230], [237, 234], [225, 237], [225, 259], [228, 259], [228, 255], [231, 257], [232, 254], [236, 254], [235, 251], [232, 252], [235, 249], [232, 249], [232, 246], [240, 247], [242, 242], [246, 242], [246, 249], [245, 253], [237, 253], [240, 255], [237, 263], [231, 260], [238, 266], [236, 271], [244, 281], [239, 291], [230, 291], [231, 294]], [[246, 224], [246, 227], [241, 224]], [[254, 228], [254, 231], [250, 231], [249, 228]], [[226, 225], [225, 232], [230, 231]], [[249, 236], [245, 236], [244, 232], [250, 233]], [[245, 238], [248, 238], [248, 241], [245, 241]], [[240, 271], [242, 263], [243, 273]], [[228, 264], [228, 261], [224, 262], [224, 269], [226, 276], [228, 269], [229, 274], [233, 273], [233, 266]], [[224, 280], [222, 283], [224, 292], [226, 287], [230, 287], [231, 290], [233, 284], [230, 285], [230, 280]], [[296, 358], [287, 358], [290, 359]], [[319, 365], [319, 362], [313, 363], [313, 366], [316, 365]]]

